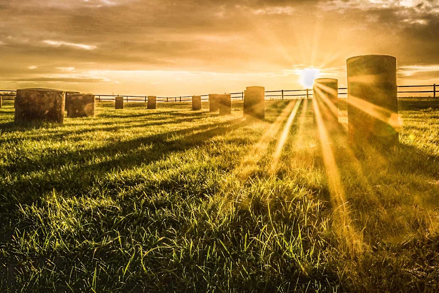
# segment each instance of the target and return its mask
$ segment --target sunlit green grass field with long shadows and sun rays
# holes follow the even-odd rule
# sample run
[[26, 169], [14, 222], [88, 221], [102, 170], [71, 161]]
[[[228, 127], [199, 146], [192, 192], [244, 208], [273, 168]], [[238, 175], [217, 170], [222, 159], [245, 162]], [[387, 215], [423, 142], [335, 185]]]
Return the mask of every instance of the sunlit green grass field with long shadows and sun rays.
[[310, 106], [18, 127], [4, 102], [0, 291], [438, 292], [439, 102], [400, 100], [384, 154], [321, 144]]

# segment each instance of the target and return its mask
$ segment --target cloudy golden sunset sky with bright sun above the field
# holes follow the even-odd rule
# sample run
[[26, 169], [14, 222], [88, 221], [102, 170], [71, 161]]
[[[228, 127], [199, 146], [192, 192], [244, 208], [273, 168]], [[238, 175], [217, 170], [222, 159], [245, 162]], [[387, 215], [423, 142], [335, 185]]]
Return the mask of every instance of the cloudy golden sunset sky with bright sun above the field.
[[389, 54], [398, 84], [439, 83], [439, 0], [0, 0], [0, 89], [179, 96], [346, 84]]

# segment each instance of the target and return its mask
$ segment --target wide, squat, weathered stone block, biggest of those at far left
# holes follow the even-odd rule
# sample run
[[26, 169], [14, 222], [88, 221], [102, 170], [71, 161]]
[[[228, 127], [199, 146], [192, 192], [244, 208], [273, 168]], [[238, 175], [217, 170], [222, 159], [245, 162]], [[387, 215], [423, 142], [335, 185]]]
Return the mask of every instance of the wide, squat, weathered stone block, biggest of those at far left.
[[14, 100], [16, 123], [50, 121], [63, 123], [65, 92], [46, 88], [18, 89]]

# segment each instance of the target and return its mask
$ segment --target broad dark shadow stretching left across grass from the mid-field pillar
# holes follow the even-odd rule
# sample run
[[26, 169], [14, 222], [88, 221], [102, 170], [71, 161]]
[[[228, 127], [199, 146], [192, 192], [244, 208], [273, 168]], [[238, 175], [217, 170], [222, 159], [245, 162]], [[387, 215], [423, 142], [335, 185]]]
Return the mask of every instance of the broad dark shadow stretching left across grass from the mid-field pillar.
[[[93, 185], [96, 178], [112, 169], [126, 170], [140, 164], [166, 159], [170, 153], [184, 152], [205, 145], [209, 139], [243, 126], [245, 122], [242, 122], [242, 119], [233, 119], [128, 141], [116, 141], [100, 148], [69, 152], [64, 156], [54, 154], [43, 157], [37, 162], [22, 162], [7, 166], [2, 168], [2, 172], [21, 174], [39, 170], [46, 172], [30, 177], [20, 176], [10, 185], [0, 186], [0, 194], [6, 199], [3, 210], [14, 209], [17, 203], [38, 201], [42, 194], [51, 190], [69, 191], [71, 194], [80, 195]], [[194, 133], [195, 131], [197, 132]], [[94, 157], [110, 159], [97, 164], [86, 163]], [[15, 200], [11, 202], [12, 198]]]

